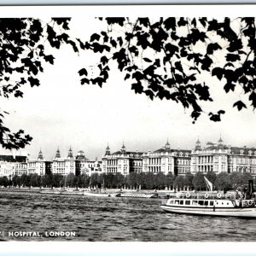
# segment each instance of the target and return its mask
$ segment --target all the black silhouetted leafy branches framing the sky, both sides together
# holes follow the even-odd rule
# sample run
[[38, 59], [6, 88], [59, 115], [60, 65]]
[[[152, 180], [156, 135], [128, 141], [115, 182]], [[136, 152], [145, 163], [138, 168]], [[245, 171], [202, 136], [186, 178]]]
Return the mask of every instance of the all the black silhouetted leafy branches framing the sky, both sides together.
[[[100, 18], [106, 29], [93, 33], [89, 42], [69, 37], [69, 20], [0, 19], [0, 96], [22, 97], [24, 84], [38, 86], [44, 63], [54, 64], [51, 49], [69, 44], [74, 52], [91, 50], [98, 58], [95, 68], [79, 70], [81, 84], [102, 87], [111, 62], [116, 63], [131, 82], [131, 90], [151, 100], [182, 104], [191, 110], [193, 123], [206, 112], [201, 102], [213, 101], [211, 89], [218, 81], [223, 82], [225, 93], [240, 88], [233, 103], [238, 111], [249, 104], [256, 107], [254, 18]], [[209, 82], [207, 74], [216, 82]], [[225, 111], [212, 108], [206, 113], [218, 122]], [[1, 145], [24, 148], [32, 137], [23, 130], [10, 131], [3, 125], [5, 114], [0, 113]]]

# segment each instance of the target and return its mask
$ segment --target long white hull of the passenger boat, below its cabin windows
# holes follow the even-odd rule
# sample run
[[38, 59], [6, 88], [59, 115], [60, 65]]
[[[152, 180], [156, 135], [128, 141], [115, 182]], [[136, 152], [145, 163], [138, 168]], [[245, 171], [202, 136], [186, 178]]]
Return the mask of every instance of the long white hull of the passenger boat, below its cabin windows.
[[195, 215], [211, 215], [222, 217], [240, 217], [240, 218], [256, 218], [256, 207], [175, 207], [175, 206], [161, 206], [165, 212], [195, 214]]

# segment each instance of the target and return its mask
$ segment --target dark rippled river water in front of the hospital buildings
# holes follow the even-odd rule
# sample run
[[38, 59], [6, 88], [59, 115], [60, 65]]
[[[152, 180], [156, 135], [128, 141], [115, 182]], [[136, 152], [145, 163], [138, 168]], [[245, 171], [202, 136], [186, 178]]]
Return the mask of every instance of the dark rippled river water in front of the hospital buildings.
[[[160, 200], [0, 192], [0, 231], [8, 241], [255, 241], [256, 220], [162, 212]], [[34, 231], [42, 237], [8, 236]], [[75, 232], [46, 237], [45, 231]]]

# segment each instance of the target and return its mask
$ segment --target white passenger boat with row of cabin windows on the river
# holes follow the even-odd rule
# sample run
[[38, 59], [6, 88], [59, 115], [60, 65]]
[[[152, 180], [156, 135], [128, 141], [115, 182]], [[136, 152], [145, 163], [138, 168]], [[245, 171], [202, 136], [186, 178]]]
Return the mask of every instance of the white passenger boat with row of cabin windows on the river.
[[177, 192], [169, 194], [160, 207], [166, 212], [224, 217], [256, 218], [256, 193]]

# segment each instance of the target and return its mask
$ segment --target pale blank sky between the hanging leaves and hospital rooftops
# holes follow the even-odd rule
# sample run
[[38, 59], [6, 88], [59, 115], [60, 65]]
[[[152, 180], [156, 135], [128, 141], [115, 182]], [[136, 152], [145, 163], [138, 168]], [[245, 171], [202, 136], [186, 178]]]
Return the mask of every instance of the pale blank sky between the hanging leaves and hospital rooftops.
[[[88, 39], [100, 28], [99, 22], [92, 15], [74, 15], [71, 32]], [[189, 149], [195, 147], [198, 137], [204, 145], [217, 142], [220, 135], [226, 144], [256, 146], [253, 109], [238, 112], [232, 108], [242, 95], [239, 91], [226, 95], [218, 79], [207, 78], [214, 84], [215, 101], [212, 107], [206, 104], [205, 108], [224, 108], [222, 121], [212, 122], [203, 114], [193, 125], [190, 111], [177, 103], [152, 102], [147, 96], [136, 95], [131, 81], [124, 81], [124, 74], [115, 67], [102, 89], [81, 85], [78, 71], [94, 63], [96, 55], [76, 55], [70, 47], [54, 55], [55, 64], [44, 65], [44, 73], [39, 75], [39, 87], [26, 86], [23, 98], [2, 99], [4, 110], [10, 113], [5, 124], [33, 137], [31, 145], [24, 149], [32, 159], [37, 158], [40, 148], [44, 158], [51, 160], [57, 148], [66, 157], [71, 147], [73, 154], [83, 150], [86, 157], [95, 160], [102, 158], [107, 145], [111, 152], [119, 150], [123, 143], [126, 150], [147, 152], [163, 147], [167, 139], [172, 148]]]

